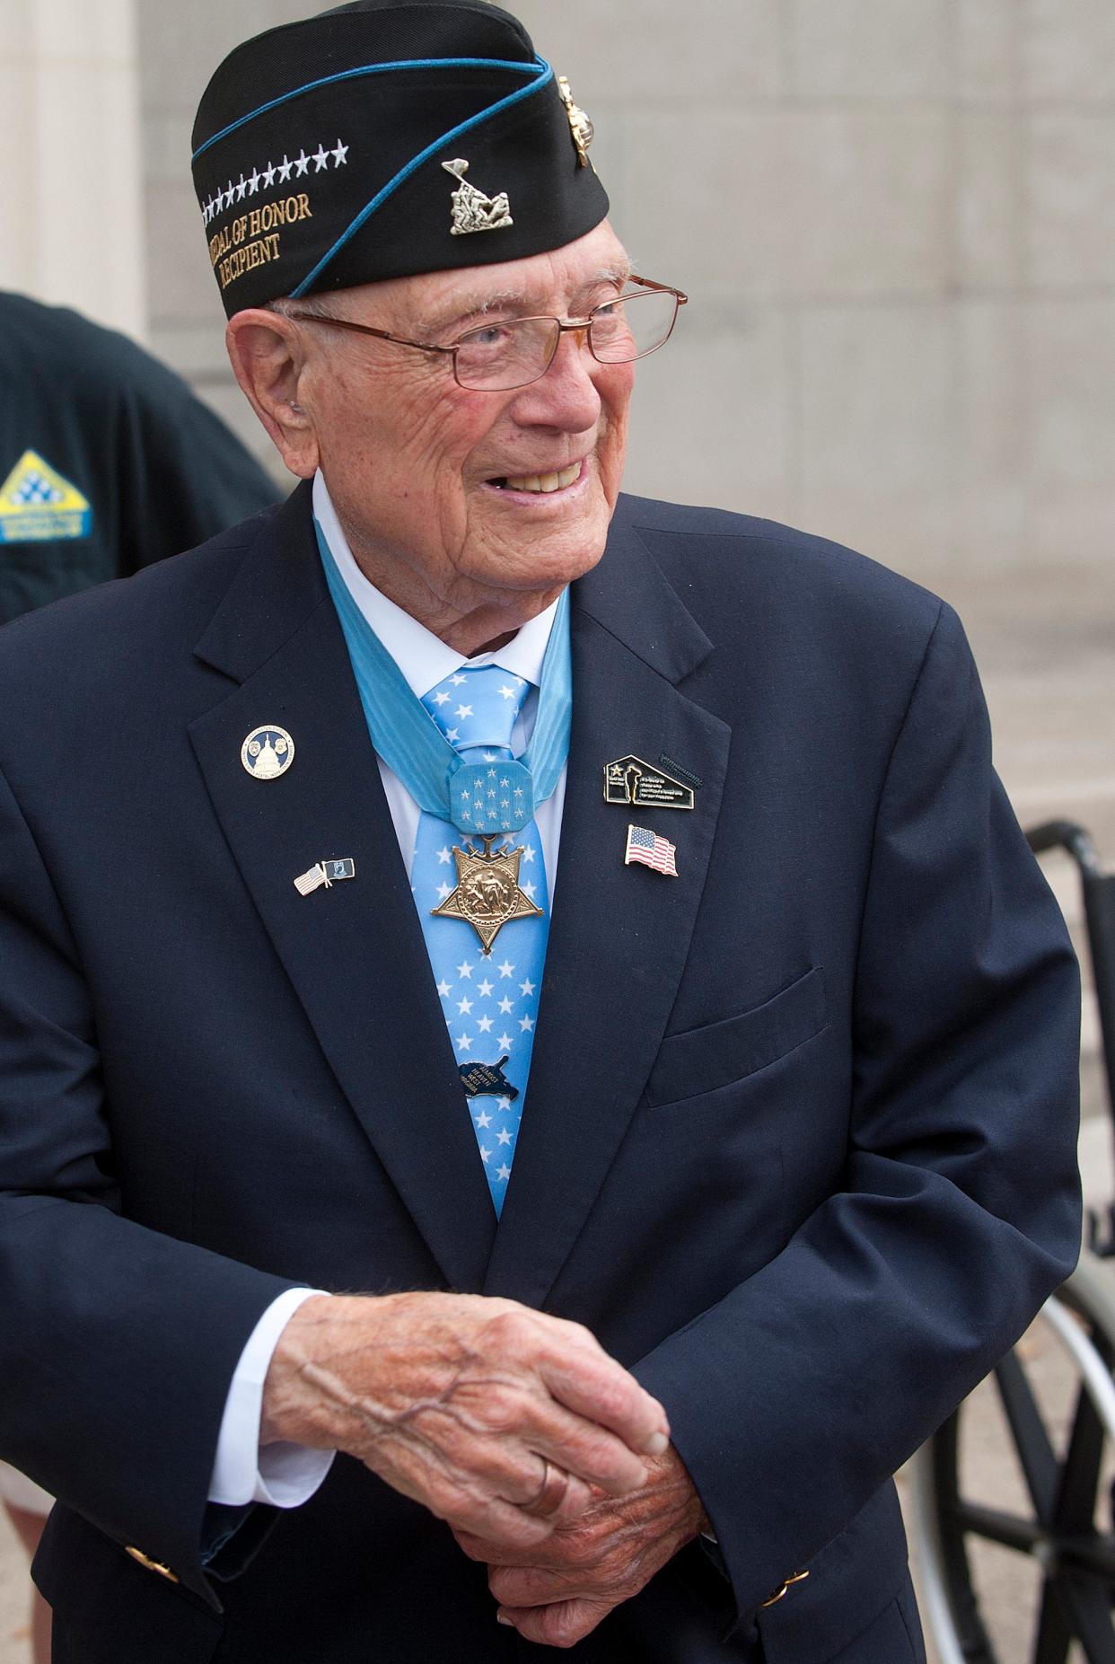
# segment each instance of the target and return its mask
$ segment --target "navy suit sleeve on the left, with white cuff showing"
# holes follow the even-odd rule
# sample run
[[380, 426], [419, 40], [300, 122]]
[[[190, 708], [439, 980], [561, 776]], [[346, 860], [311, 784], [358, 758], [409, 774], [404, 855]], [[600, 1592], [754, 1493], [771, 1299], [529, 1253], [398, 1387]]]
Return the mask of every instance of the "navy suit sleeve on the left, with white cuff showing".
[[0, 1454], [211, 1601], [228, 1384], [283, 1278], [123, 1218], [75, 945], [0, 777]]

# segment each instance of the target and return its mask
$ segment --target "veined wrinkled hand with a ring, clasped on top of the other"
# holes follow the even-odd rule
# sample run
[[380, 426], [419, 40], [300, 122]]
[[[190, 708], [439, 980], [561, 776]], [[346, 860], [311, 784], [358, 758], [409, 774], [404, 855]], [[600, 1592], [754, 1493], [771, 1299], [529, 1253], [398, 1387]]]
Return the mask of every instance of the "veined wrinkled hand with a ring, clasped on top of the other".
[[531, 1548], [666, 1449], [662, 1406], [587, 1330], [478, 1295], [305, 1301], [263, 1388], [261, 1443], [343, 1449], [454, 1529]]

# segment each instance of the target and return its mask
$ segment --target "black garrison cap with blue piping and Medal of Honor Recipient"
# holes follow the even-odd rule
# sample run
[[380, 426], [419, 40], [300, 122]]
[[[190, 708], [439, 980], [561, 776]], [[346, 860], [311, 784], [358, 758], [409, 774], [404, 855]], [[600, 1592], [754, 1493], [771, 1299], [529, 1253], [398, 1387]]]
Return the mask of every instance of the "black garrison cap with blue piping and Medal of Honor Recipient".
[[571, 243], [607, 213], [591, 138], [484, 0], [356, 0], [256, 35], [193, 125], [225, 311]]

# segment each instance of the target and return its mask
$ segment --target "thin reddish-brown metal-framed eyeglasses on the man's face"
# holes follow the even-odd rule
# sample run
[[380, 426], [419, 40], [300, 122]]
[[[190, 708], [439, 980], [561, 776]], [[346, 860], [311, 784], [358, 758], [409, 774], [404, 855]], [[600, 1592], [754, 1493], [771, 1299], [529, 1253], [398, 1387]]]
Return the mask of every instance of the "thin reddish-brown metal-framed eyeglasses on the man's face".
[[639, 288], [594, 306], [586, 318], [499, 318], [466, 329], [449, 346], [408, 341], [401, 334], [388, 334], [386, 329], [373, 329], [349, 318], [305, 311], [286, 311], [283, 316], [371, 334], [378, 341], [418, 348], [419, 353], [448, 353], [458, 386], [473, 393], [509, 393], [541, 381], [566, 331], [584, 336], [599, 364], [631, 364], [666, 346], [674, 333], [677, 308], [689, 296], [649, 278], [632, 276], [631, 281]]

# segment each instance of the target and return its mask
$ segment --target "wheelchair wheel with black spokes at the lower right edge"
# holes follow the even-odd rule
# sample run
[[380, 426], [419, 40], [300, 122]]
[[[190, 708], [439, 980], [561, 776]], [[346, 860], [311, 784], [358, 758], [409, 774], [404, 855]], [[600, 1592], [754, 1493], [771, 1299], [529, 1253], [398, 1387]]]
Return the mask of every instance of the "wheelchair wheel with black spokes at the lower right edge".
[[1113, 1364], [1115, 1273], [1085, 1255], [910, 1463], [940, 1664], [1115, 1664]]

